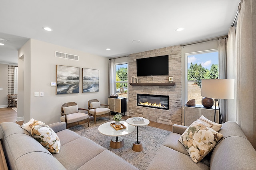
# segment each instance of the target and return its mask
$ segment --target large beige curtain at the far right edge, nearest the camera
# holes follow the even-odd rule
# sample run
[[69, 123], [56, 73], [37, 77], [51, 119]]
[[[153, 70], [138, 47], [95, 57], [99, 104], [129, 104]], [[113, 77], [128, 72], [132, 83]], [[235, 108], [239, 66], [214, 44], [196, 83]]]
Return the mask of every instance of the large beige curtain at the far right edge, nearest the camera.
[[242, 0], [237, 21], [238, 125], [256, 149], [256, 0]]

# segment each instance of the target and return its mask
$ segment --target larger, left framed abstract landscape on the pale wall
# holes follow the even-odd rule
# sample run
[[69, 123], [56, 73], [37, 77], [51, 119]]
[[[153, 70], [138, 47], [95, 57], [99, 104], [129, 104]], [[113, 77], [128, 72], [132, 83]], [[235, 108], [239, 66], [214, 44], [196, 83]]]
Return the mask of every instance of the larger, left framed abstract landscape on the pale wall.
[[79, 67], [56, 65], [56, 94], [79, 93]]

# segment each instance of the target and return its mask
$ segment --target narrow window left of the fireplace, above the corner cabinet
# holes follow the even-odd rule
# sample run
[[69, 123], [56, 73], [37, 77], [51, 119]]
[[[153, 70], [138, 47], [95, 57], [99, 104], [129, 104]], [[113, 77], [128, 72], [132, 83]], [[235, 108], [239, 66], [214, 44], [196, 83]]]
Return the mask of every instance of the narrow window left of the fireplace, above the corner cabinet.
[[[128, 64], [127, 63], [118, 63], [115, 64], [116, 67], [116, 93], [119, 97], [127, 98], [128, 99]], [[124, 88], [124, 92], [120, 92], [120, 88]]]

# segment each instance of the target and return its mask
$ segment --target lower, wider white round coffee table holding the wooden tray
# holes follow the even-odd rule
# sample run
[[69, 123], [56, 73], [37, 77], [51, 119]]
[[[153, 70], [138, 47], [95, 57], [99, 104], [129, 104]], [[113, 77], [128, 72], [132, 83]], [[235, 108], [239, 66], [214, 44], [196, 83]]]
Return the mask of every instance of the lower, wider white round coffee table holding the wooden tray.
[[98, 130], [103, 135], [107, 136], [113, 136], [113, 138], [110, 141], [110, 147], [118, 149], [124, 147], [124, 140], [121, 136], [128, 135], [132, 133], [135, 130], [135, 127], [132, 125], [129, 125], [126, 123], [126, 121], [120, 121], [124, 126], [126, 126], [125, 129], [116, 130], [114, 127], [112, 127], [110, 124], [114, 123], [115, 121], [106, 122], [99, 126]]

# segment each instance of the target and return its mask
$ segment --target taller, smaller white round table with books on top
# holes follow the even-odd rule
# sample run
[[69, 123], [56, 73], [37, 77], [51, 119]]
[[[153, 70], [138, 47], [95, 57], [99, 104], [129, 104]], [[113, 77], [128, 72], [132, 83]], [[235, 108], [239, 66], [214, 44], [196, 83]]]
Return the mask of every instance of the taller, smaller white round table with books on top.
[[134, 150], [135, 152], [141, 152], [143, 150], [143, 147], [142, 147], [142, 144], [141, 142], [139, 141], [139, 126], [146, 126], [149, 124], [149, 120], [144, 118], [144, 122], [145, 123], [134, 123], [133, 120], [132, 120], [132, 117], [128, 118], [126, 120], [126, 122], [129, 124], [129, 125], [133, 125], [133, 126], [137, 126], [137, 141], [133, 143], [132, 145], [132, 150]]

